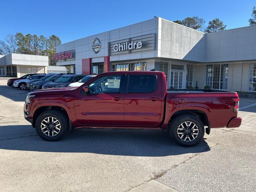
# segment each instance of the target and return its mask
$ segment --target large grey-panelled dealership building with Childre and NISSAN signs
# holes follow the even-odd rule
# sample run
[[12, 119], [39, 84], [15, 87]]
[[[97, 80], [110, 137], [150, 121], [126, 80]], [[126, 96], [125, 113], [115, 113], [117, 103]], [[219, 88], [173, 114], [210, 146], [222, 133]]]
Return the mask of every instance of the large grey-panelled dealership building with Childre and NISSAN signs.
[[256, 26], [204, 33], [156, 17], [56, 46], [76, 74], [158, 70], [168, 88], [256, 91]]

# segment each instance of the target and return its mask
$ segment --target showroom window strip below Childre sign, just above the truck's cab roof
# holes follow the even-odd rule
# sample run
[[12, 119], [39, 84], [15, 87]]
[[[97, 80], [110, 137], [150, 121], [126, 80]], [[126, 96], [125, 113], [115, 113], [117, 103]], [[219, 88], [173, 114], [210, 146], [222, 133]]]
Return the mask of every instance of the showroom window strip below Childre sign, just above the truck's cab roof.
[[146, 62], [113, 64], [112, 71], [146, 71]]

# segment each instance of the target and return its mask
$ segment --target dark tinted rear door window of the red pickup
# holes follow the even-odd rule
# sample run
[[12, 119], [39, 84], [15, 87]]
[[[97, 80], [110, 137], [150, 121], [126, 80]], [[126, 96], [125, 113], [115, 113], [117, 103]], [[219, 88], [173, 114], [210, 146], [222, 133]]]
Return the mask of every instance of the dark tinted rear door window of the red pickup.
[[131, 75], [129, 79], [129, 93], [151, 93], [157, 90], [156, 75]]

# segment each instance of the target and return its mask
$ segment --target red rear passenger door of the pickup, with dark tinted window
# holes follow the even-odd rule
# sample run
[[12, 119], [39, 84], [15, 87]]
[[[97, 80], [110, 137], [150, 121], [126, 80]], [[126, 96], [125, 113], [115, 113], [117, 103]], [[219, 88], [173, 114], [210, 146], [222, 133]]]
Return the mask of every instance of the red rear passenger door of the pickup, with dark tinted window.
[[124, 94], [124, 122], [126, 126], [150, 127], [160, 121], [162, 90], [157, 75], [128, 76]]

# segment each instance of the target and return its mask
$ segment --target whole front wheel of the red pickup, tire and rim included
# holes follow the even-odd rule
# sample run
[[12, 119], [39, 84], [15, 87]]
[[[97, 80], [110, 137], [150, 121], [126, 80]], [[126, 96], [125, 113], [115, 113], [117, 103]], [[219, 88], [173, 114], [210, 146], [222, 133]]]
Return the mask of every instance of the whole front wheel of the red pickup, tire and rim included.
[[68, 131], [68, 118], [58, 110], [44, 111], [36, 119], [36, 132], [46, 141], [58, 141]]

